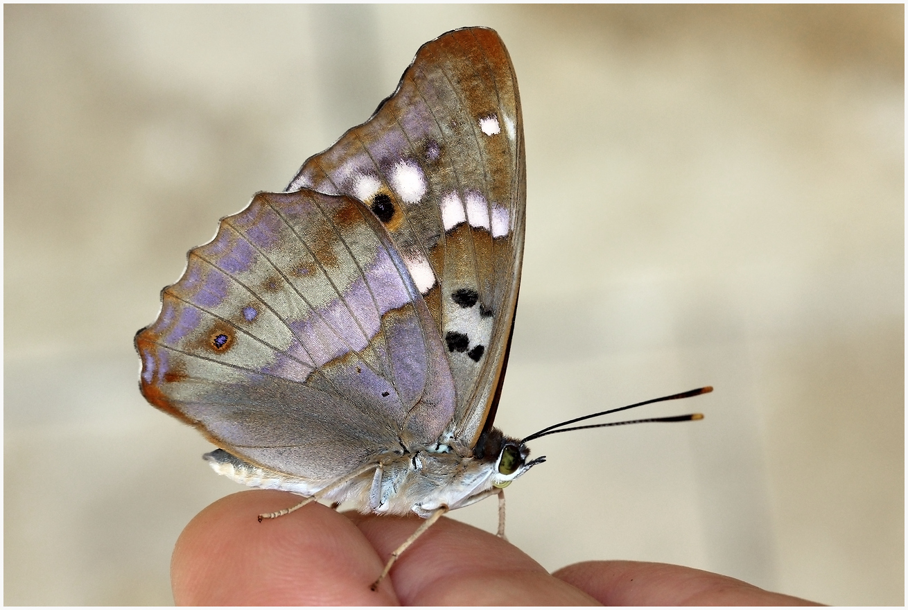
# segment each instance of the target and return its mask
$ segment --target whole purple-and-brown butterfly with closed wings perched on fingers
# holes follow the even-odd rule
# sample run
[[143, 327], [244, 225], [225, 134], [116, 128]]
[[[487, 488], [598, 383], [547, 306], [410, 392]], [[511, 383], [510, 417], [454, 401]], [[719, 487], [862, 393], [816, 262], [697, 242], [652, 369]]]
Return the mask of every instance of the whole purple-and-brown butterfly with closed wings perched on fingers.
[[380, 578], [485, 497], [503, 536], [501, 490], [545, 459], [493, 427], [525, 202], [508, 51], [488, 28], [439, 36], [366, 123], [189, 251], [135, 337], [144, 397], [235, 481], [426, 518]]

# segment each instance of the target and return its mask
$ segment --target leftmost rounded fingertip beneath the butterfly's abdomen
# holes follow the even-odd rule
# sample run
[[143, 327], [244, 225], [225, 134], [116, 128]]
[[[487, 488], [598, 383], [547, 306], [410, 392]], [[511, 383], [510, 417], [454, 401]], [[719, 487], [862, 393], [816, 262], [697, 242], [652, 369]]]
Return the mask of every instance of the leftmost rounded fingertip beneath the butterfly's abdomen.
[[348, 518], [312, 503], [259, 523], [258, 515], [299, 500], [257, 490], [205, 508], [173, 550], [173, 600], [178, 605], [396, 605], [390, 583], [370, 591], [382, 561]]

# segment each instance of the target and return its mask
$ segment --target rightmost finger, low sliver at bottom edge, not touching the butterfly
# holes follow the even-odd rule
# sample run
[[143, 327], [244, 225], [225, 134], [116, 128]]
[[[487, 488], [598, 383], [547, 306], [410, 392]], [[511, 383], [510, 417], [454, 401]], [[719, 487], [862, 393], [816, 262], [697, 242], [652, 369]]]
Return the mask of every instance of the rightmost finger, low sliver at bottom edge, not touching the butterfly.
[[587, 561], [553, 576], [605, 605], [819, 605], [691, 567]]

